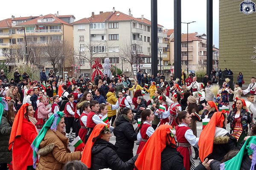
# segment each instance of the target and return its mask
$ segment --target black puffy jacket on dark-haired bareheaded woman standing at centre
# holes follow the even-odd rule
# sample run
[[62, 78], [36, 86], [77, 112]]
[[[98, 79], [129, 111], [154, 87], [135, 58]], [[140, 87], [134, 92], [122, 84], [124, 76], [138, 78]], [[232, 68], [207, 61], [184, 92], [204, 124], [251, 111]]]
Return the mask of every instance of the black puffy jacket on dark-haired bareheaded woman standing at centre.
[[116, 120], [116, 127], [113, 130], [116, 136], [117, 152], [133, 153], [134, 141], [137, 140], [137, 132], [133, 125], [128, 122], [122, 115], [119, 115]]

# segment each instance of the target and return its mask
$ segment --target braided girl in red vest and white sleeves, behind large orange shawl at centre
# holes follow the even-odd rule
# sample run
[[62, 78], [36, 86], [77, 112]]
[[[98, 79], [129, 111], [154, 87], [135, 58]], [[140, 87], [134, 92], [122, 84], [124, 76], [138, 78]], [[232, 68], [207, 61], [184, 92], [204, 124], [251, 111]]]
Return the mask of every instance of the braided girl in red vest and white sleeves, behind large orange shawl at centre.
[[148, 141], [149, 137], [154, 133], [153, 127], [151, 127], [151, 121], [154, 120], [154, 114], [150, 109], [145, 109], [141, 112], [141, 124], [137, 131], [137, 140], [140, 142], [140, 145], [137, 149], [137, 155], [141, 152], [144, 145]]

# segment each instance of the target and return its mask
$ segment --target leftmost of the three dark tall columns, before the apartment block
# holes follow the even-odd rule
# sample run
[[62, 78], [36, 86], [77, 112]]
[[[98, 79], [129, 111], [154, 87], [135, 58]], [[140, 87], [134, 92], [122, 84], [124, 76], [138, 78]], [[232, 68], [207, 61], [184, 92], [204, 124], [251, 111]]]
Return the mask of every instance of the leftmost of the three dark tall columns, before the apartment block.
[[157, 0], [151, 0], [151, 74], [157, 77]]

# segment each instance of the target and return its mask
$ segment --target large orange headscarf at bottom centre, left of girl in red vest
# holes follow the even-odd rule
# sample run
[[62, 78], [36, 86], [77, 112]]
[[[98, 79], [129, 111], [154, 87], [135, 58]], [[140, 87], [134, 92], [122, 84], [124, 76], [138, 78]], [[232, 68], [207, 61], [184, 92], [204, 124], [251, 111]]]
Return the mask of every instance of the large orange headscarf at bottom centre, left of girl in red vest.
[[160, 170], [161, 153], [166, 148], [166, 144], [176, 147], [170, 129], [172, 129], [170, 125], [160, 125], [150, 136], [135, 162], [138, 170]]

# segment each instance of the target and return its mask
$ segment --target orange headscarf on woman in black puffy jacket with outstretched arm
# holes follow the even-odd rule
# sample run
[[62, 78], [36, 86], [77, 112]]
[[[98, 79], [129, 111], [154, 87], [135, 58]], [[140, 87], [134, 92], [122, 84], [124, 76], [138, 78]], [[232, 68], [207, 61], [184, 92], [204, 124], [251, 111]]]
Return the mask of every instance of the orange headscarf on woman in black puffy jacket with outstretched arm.
[[88, 168], [90, 168], [91, 166], [91, 157], [92, 157], [92, 147], [93, 144], [95, 143], [96, 139], [98, 139], [101, 134], [102, 131], [104, 131], [105, 129], [104, 124], [98, 124], [93, 128], [92, 133], [89, 136], [89, 139], [87, 141], [87, 143], [85, 144], [84, 147], [84, 152], [81, 158], [81, 162], [83, 162]]

